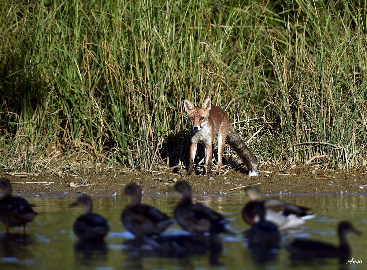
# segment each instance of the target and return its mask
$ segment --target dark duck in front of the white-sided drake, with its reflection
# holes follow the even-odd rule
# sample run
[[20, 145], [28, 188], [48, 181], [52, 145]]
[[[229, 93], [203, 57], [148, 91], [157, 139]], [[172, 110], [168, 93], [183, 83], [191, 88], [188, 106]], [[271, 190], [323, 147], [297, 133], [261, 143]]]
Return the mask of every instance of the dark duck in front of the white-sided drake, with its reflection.
[[248, 247], [252, 250], [258, 263], [265, 263], [275, 258], [280, 248], [281, 234], [278, 227], [265, 220], [264, 204], [258, 202], [251, 209], [252, 215], [259, 217], [259, 222], [247, 231]]

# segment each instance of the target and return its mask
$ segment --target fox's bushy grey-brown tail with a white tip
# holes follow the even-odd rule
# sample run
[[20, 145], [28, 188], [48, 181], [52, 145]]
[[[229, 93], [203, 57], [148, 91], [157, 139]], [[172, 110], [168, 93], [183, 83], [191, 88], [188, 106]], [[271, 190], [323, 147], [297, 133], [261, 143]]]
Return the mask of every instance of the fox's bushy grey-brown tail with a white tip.
[[257, 176], [258, 167], [254, 155], [252, 155], [250, 149], [248, 149], [245, 142], [237, 133], [235, 127], [232, 125], [229, 128], [229, 132], [226, 138], [227, 143], [236, 151], [237, 155], [243, 160], [248, 167], [248, 176]]

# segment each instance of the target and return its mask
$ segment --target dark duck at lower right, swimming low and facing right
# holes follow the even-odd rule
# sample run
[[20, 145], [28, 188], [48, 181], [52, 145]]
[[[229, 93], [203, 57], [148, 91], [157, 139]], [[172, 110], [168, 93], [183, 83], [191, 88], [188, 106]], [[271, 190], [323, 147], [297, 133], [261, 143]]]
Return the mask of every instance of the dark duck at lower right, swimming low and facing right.
[[293, 260], [309, 260], [314, 258], [339, 258], [341, 262], [350, 259], [350, 245], [347, 241], [349, 232], [361, 234], [349, 221], [341, 221], [338, 225], [339, 246], [316, 240], [295, 239], [286, 249]]

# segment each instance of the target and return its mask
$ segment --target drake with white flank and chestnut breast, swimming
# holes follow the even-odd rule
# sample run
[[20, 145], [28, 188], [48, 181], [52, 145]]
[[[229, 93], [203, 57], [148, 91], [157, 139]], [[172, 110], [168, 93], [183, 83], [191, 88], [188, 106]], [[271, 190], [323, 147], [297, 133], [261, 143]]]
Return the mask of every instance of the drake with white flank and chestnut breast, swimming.
[[306, 220], [316, 217], [314, 214], [307, 214], [310, 209], [303, 206], [296, 206], [275, 199], [261, 200], [261, 192], [258, 186], [248, 186], [245, 191], [251, 201], [243, 207], [242, 217], [250, 225], [259, 221], [258, 215], [255, 215], [253, 211], [258, 203], [264, 204], [265, 220], [275, 223], [280, 230], [297, 227]]

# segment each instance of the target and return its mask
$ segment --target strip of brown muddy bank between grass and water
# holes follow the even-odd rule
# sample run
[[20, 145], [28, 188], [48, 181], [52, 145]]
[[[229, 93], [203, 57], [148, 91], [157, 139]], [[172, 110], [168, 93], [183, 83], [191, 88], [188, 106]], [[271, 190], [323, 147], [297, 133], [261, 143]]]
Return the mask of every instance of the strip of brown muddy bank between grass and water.
[[[196, 173], [200, 173], [197, 171]], [[89, 195], [119, 195], [126, 184], [139, 183], [146, 195], [176, 194], [172, 185], [177, 180], [187, 180], [196, 194], [218, 195], [220, 193], [239, 193], [234, 189], [242, 185], [259, 184], [263, 193], [302, 194], [302, 193], [361, 193], [367, 194], [367, 173], [362, 171], [323, 171], [308, 167], [297, 167], [289, 171], [270, 171], [262, 167], [259, 177], [248, 177], [243, 171], [227, 170], [223, 175], [190, 175], [185, 171], [174, 173], [142, 173], [138, 171], [119, 171], [96, 175], [29, 175], [25, 178], [0, 173], [14, 184], [13, 194], [22, 196], [75, 196], [80, 193]], [[84, 184], [84, 185], [83, 185]], [[170, 189], [171, 188], [171, 189]]]

